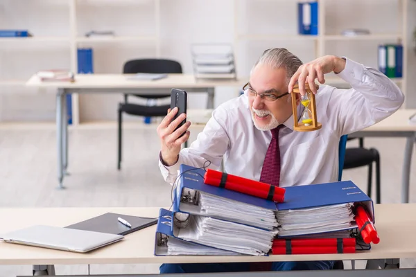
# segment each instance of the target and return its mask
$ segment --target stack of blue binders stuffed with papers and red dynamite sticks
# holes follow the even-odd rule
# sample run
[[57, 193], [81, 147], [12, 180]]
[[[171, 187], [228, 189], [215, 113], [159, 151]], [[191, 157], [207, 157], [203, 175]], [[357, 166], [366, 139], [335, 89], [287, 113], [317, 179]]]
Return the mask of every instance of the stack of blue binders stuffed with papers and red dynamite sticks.
[[227, 189], [232, 175], [207, 184], [208, 173], [180, 166], [173, 211], [160, 211], [155, 255], [204, 255], [207, 247], [220, 256], [354, 253], [379, 242], [360, 236], [363, 224], [376, 236], [373, 202], [352, 181], [284, 188], [284, 202], [275, 202]]

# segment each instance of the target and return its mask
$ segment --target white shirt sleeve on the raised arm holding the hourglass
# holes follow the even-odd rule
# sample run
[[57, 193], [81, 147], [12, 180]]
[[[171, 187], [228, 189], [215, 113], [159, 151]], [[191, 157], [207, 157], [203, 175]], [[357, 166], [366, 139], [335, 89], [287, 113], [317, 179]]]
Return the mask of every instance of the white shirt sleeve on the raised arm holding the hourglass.
[[399, 87], [380, 71], [345, 58], [338, 77], [351, 89], [333, 89], [327, 116], [333, 116], [340, 136], [360, 131], [394, 114], [404, 102]]

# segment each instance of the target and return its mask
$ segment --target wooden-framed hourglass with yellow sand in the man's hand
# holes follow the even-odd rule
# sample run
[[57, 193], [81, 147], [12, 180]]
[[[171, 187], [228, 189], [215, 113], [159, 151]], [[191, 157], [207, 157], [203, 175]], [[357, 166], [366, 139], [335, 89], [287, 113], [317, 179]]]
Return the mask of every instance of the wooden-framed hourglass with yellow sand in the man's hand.
[[[316, 89], [318, 89], [318, 84], [315, 84]], [[315, 94], [309, 88], [309, 84], [305, 83], [305, 95], [300, 96], [300, 103], [304, 106], [304, 111], [300, 120], [294, 120], [293, 129], [300, 132], [309, 132], [315, 131], [322, 127], [322, 124], [318, 122], [316, 117], [316, 104], [315, 104]], [[297, 118], [297, 105], [296, 105], [296, 93], [300, 93], [299, 85], [295, 84], [292, 91], [292, 109], [293, 109], [293, 118]]]

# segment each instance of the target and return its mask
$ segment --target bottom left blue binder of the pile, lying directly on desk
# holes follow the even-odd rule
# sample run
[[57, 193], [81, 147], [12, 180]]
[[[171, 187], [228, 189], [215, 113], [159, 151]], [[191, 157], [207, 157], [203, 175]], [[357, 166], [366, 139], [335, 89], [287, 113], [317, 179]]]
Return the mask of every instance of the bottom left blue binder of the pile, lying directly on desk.
[[[161, 208], [159, 211], [159, 218], [157, 220], [157, 229], [155, 235], [155, 256], [239, 255], [239, 253], [234, 253], [232, 251], [225, 251], [221, 249], [216, 249], [214, 247], [207, 247], [205, 245], [197, 244], [195, 242], [187, 242], [185, 240], [181, 240], [180, 238], [175, 238], [171, 229], [172, 215], [172, 211], [168, 211], [164, 208]], [[176, 244], [175, 254], [168, 252], [169, 241], [173, 244]], [[182, 253], [177, 252], [177, 245], [183, 247], [184, 251]]]

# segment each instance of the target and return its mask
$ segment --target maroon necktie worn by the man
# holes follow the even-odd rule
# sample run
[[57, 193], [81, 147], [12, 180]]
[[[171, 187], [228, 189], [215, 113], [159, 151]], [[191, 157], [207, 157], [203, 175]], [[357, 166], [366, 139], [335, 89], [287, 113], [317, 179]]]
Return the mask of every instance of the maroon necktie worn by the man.
[[260, 181], [272, 186], [279, 186], [280, 181], [279, 129], [283, 126], [279, 125], [271, 130], [272, 141], [270, 141], [261, 169]]

